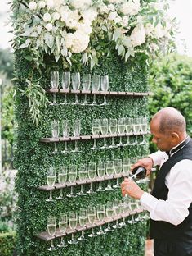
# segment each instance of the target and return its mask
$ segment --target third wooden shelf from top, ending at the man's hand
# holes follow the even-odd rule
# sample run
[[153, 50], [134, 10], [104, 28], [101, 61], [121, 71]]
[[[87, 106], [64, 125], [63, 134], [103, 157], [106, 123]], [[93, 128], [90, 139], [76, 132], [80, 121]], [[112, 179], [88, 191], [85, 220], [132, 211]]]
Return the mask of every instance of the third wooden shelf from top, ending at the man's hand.
[[85, 184], [95, 183], [95, 182], [99, 182], [99, 181], [109, 181], [109, 180], [123, 178], [123, 177], [127, 177], [127, 174], [121, 172], [119, 174], [114, 174], [113, 176], [105, 175], [102, 178], [97, 176], [94, 180], [87, 179], [86, 181], [75, 181], [74, 183], [70, 183], [69, 181], [67, 181], [64, 185], [60, 185], [59, 183], [56, 183], [52, 187], [48, 186], [48, 185], [42, 185], [42, 186], [38, 187], [38, 190], [43, 190], [43, 191], [60, 190], [60, 189], [69, 188], [69, 187], [75, 186], [75, 185], [85, 185]]

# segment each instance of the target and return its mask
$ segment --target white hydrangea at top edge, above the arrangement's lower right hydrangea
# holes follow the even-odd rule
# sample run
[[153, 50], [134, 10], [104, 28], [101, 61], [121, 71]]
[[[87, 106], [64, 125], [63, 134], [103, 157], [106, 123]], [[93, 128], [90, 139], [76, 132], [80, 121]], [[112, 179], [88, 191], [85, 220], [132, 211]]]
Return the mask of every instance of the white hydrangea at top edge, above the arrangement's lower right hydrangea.
[[136, 15], [141, 10], [140, 0], [129, 0], [119, 8], [124, 15]]

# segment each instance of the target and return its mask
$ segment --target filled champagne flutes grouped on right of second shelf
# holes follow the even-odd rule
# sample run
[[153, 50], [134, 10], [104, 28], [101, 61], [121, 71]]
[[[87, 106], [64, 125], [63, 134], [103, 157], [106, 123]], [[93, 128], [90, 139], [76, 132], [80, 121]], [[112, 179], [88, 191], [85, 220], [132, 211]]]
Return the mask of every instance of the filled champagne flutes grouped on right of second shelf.
[[127, 143], [123, 144], [122, 137], [120, 136], [119, 143], [114, 144], [114, 137], [112, 137], [112, 144], [107, 145], [106, 139], [104, 138], [104, 145], [100, 148], [96, 146], [96, 139], [92, 149], [113, 149], [118, 147], [125, 147], [127, 145], [145, 144], [144, 135], [140, 143], [137, 141], [130, 142], [129, 135], [134, 132], [138, 134], [140, 132], [147, 132], [147, 118], [146, 117], [122, 117], [118, 119], [93, 119], [92, 121], [92, 134], [93, 135], [124, 135], [127, 134]]

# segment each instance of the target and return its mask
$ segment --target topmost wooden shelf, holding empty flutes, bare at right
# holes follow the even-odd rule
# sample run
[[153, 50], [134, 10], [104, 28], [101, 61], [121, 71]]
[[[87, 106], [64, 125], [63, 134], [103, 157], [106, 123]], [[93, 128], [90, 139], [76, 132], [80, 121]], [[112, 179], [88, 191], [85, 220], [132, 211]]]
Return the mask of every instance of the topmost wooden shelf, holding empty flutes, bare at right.
[[151, 96], [153, 93], [137, 93], [137, 92], [110, 92], [110, 91], [92, 91], [92, 90], [74, 90], [74, 89], [45, 89], [48, 94], [96, 94], [106, 96], [132, 96], [132, 97], [144, 97]]

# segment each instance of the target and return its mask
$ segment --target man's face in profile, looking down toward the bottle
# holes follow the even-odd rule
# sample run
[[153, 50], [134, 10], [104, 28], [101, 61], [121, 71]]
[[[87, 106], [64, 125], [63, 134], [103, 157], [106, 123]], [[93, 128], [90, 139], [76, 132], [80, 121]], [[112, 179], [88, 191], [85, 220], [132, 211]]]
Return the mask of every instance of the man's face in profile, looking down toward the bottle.
[[153, 135], [152, 141], [157, 145], [158, 149], [161, 151], [169, 151], [172, 149], [172, 135], [169, 133], [160, 133], [159, 132], [159, 121], [152, 120], [150, 122], [150, 131]]

